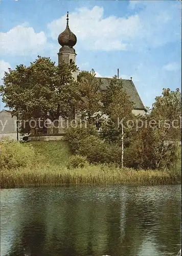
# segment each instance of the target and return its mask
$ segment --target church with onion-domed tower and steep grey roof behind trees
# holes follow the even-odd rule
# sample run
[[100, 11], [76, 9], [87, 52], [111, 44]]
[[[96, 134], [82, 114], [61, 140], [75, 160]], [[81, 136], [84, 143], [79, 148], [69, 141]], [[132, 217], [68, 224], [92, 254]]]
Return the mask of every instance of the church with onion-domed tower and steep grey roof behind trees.
[[[58, 53], [58, 64], [61, 61], [65, 63], [76, 63], [76, 52], [73, 48], [77, 43], [76, 35], [69, 28], [69, 13], [67, 12], [67, 23], [65, 30], [58, 36], [58, 42], [61, 45], [61, 48]], [[77, 80], [78, 71], [73, 73], [73, 77]], [[107, 90], [107, 87], [110, 85], [110, 80], [112, 78], [106, 77], [96, 77], [102, 82], [101, 90]], [[130, 100], [134, 103], [133, 114], [135, 115], [144, 115], [147, 110], [137, 92], [137, 89], [134, 86], [132, 77], [130, 79], [119, 79], [122, 80], [123, 90], [130, 96]]]

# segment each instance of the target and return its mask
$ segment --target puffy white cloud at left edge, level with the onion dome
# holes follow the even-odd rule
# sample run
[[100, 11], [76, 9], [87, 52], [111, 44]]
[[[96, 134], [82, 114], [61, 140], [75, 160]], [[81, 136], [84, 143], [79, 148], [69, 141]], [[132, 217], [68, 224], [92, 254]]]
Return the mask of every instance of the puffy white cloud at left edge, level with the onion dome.
[[18, 25], [6, 33], [0, 33], [0, 53], [2, 55], [38, 54], [47, 44], [43, 31], [36, 33], [27, 24]]

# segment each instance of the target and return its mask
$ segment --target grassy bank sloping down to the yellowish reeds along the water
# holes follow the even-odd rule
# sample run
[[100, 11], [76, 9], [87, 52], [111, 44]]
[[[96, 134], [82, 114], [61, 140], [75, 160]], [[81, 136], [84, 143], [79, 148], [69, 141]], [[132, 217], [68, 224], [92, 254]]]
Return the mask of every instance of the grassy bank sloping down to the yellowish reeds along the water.
[[[181, 183], [180, 170], [164, 172], [162, 170], [121, 169], [113, 165], [89, 164], [86, 164], [84, 168], [69, 170], [66, 168], [66, 162], [71, 153], [65, 141], [37, 141], [22, 144], [23, 147], [29, 145], [33, 147], [31, 150], [35, 153], [34, 155], [31, 154], [32, 160], [26, 166], [1, 170], [1, 188], [85, 184], [166, 185]], [[16, 144], [14, 144], [15, 147]], [[20, 147], [18, 145], [18, 150], [20, 150]], [[29, 151], [27, 152], [27, 159], [29, 159]], [[20, 158], [21, 155], [22, 152], [19, 155], [16, 153], [16, 158], [17, 156]], [[21, 157], [24, 158], [24, 156]], [[20, 160], [22, 161], [22, 159]], [[15, 163], [12, 162], [12, 164]]]

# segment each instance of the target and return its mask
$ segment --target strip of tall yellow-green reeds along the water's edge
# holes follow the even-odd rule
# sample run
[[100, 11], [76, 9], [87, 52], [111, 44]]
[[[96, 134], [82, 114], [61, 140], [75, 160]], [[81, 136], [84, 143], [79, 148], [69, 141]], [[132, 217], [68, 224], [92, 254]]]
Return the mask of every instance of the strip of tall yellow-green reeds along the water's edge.
[[133, 170], [129, 168], [88, 165], [68, 170], [61, 166], [34, 166], [1, 172], [1, 188], [70, 186], [70, 185], [163, 185], [180, 184], [180, 173], [160, 170]]

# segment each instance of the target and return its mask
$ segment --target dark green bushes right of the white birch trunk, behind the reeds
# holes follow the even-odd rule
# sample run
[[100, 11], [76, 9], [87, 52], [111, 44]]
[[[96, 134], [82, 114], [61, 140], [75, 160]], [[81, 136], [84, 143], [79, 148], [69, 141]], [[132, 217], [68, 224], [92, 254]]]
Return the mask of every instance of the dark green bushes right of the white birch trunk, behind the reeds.
[[135, 169], [175, 168], [178, 152], [178, 143], [165, 144], [155, 130], [142, 127], [124, 150], [124, 164]]

